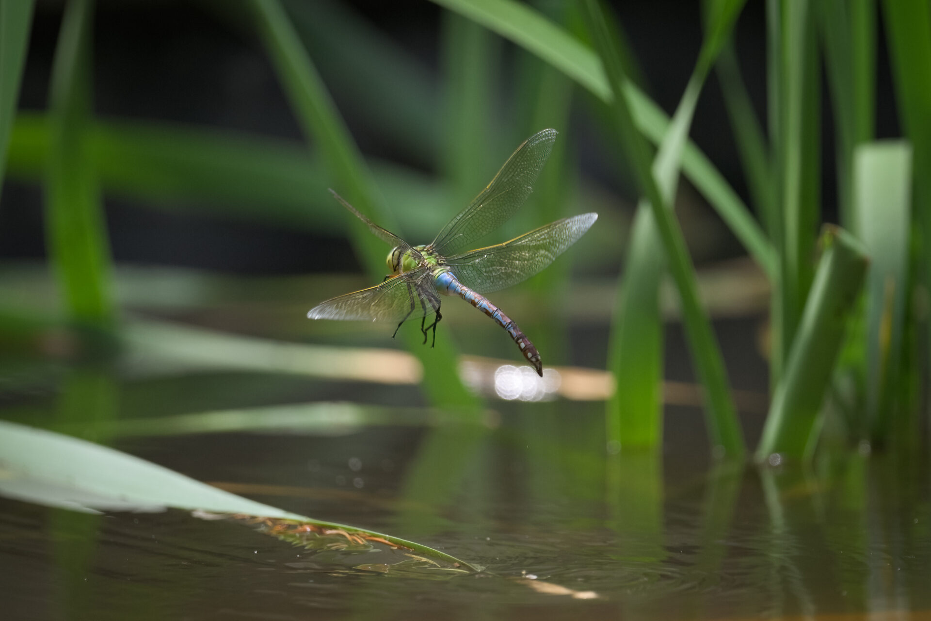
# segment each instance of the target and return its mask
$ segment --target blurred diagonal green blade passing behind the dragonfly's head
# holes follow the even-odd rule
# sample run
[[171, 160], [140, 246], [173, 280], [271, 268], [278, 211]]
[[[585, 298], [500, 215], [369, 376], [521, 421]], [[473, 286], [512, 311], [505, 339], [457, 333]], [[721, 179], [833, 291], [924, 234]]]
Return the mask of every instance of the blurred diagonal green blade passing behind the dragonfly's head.
[[[252, 7], [259, 20], [259, 29], [265, 47], [277, 69], [281, 83], [288, 93], [291, 105], [307, 137], [317, 142], [321, 156], [331, 169], [334, 185], [356, 209], [388, 230], [400, 234], [387, 209], [376, 197], [368, 169], [343, 119], [320, 80], [313, 62], [291, 27], [288, 16], [275, 0], [253, 0]], [[339, 209], [334, 207], [333, 209]], [[346, 218], [351, 218], [346, 214]], [[385, 271], [388, 249], [376, 242], [363, 226], [352, 227], [352, 240], [360, 257], [369, 268], [373, 279], [380, 280]], [[412, 330], [401, 331], [412, 353], [424, 363], [423, 387], [434, 405], [470, 405], [470, 411], [479, 415], [479, 400], [459, 379], [455, 366], [455, 348], [447, 335], [441, 332], [436, 349], [425, 349], [419, 335]]]

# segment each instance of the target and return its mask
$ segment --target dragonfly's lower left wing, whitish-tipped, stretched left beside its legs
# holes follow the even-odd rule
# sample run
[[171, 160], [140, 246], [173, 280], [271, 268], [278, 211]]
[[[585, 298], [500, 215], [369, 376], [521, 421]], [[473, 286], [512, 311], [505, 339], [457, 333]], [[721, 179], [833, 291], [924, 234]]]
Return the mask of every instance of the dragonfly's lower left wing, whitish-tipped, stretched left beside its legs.
[[430, 269], [421, 267], [381, 285], [321, 302], [310, 309], [307, 318], [398, 322], [431, 315], [436, 303]]

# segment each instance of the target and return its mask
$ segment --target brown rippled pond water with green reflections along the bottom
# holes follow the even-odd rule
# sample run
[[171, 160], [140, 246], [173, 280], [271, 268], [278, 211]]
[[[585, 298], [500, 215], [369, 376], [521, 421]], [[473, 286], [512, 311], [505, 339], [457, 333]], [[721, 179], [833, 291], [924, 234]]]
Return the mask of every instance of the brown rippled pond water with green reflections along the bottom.
[[931, 618], [923, 460], [713, 466], [690, 408], [669, 409], [658, 458], [611, 455], [600, 403], [492, 406], [492, 425], [399, 417], [326, 435], [107, 438], [228, 491], [437, 547], [484, 572], [385, 570], [403, 556], [296, 547], [177, 509], [88, 515], [0, 499], [4, 618]]

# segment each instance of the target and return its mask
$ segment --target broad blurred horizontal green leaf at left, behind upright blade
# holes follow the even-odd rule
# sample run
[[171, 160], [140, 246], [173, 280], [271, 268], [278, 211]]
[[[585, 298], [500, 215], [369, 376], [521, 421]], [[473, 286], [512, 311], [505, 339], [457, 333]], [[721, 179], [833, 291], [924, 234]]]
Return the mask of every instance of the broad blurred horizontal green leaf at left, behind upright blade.
[[[332, 209], [329, 176], [320, 158], [292, 142], [251, 134], [152, 121], [95, 122], [87, 140], [98, 182], [107, 196], [142, 199], [161, 209], [208, 210], [252, 223], [344, 233], [342, 209]], [[10, 179], [41, 179], [49, 156], [47, 115], [21, 113], [9, 145]], [[445, 222], [427, 207], [448, 202], [425, 174], [378, 163], [373, 176], [385, 195], [410, 205], [406, 228], [424, 236]], [[351, 223], [355, 224], [355, 223]]]

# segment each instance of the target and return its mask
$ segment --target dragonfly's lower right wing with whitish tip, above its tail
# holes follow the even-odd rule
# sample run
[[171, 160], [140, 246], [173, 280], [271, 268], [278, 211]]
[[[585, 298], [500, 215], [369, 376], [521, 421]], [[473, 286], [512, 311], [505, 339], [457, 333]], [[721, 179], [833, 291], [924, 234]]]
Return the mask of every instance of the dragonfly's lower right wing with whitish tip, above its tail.
[[503, 244], [456, 255], [446, 263], [452, 274], [469, 289], [479, 293], [505, 289], [553, 263], [596, 220], [597, 213], [564, 218]]

